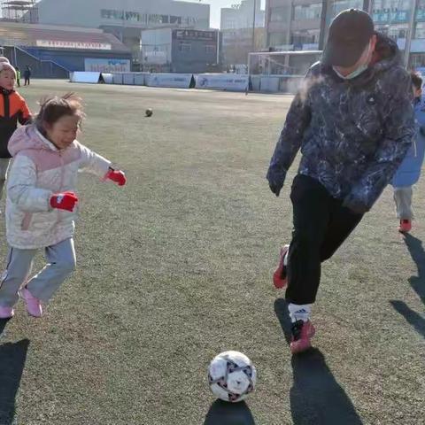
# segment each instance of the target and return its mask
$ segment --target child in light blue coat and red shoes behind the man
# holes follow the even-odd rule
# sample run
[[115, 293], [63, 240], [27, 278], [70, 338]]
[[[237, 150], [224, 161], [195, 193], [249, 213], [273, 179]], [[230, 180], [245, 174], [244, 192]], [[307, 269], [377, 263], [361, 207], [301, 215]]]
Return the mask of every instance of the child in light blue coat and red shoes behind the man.
[[422, 98], [422, 79], [417, 73], [412, 73], [413, 109], [417, 123], [417, 134], [413, 146], [407, 152], [406, 158], [392, 179], [394, 201], [399, 222], [398, 231], [405, 233], [412, 229], [413, 220], [413, 184], [421, 176], [421, 167], [425, 156], [425, 104]]

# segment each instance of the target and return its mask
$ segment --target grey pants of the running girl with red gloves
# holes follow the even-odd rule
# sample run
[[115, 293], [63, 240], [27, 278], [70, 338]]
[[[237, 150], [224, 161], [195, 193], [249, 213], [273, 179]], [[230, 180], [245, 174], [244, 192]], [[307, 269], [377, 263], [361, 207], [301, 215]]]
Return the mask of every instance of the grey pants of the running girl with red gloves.
[[47, 265], [27, 281], [38, 250], [10, 248], [7, 267], [0, 282], [0, 305], [12, 307], [19, 299], [18, 290], [27, 284], [27, 290], [35, 298], [47, 302], [66, 277], [75, 269], [73, 238], [66, 239], [44, 250]]

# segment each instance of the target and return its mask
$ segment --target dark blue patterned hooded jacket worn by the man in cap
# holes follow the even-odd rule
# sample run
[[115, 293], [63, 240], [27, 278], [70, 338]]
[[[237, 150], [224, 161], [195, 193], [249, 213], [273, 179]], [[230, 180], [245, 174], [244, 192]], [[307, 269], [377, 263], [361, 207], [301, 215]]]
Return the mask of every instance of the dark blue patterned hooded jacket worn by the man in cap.
[[368, 211], [413, 141], [411, 100], [397, 44], [383, 35], [374, 65], [350, 81], [318, 62], [290, 106], [267, 180], [282, 188], [301, 148], [298, 173], [321, 182], [353, 211]]

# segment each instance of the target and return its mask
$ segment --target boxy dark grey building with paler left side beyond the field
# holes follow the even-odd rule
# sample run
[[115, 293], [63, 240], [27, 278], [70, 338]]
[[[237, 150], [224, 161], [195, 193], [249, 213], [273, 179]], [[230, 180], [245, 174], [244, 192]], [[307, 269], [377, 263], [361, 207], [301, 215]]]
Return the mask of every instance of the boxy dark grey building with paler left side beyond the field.
[[218, 71], [219, 32], [157, 28], [142, 31], [143, 71], [207, 73]]

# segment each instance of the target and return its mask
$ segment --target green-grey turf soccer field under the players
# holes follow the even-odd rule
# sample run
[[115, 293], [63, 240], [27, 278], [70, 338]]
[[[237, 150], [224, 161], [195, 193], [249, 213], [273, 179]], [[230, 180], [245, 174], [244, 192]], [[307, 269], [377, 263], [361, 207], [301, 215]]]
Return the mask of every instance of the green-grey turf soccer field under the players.
[[[42, 320], [19, 302], [1, 325], [1, 425], [425, 423], [423, 180], [412, 236], [386, 189], [323, 266], [315, 348], [291, 359], [271, 275], [297, 166], [279, 198], [265, 180], [290, 97], [63, 81], [20, 93], [36, 111], [70, 90], [87, 104], [81, 142], [128, 185], [81, 174], [78, 271]], [[4, 264], [4, 219], [0, 237]], [[214, 403], [207, 385], [231, 349], [258, 368], [246, 405]]]

